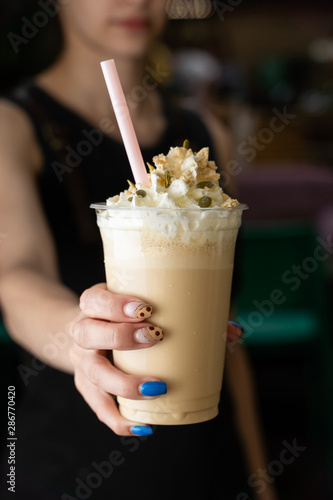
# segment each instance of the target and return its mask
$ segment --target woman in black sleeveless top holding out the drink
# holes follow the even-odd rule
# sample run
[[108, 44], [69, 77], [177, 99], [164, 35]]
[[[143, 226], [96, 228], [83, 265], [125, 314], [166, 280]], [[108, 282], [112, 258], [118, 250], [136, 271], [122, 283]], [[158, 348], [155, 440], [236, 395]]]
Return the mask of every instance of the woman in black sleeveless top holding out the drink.
[[[149, 85], [131, 107], [145, 160], [185, 137], [212, 151], [226, 143], [215, 123], [173, 110], [147, 77], [146, 54], [163, 29], [165, 8], [164, 0], [61, 2], [59, 58], [1, 103], [0, 227], [8, 237], [0, 298], [8, 331], [21, 346], [19, 499], [201, 498], [203, 490], [212, 499], [247, 498], [232, 420], [153, 429], [121, 417], [111, 396], [145, 398], [143, 384], [164, 384], [149, 374], [128, 376], [107, 357], [112, 349], [153, 343], [136, 333], [140, 298], [94, 285], [104, 274], [89, 203], [123, 190], [131, 178], [99, 62], [115, 58], [125, 95]], [[229, 329], [240, 334], [235, 325]], [[229, 357], [239, 434], [255, 472], [264, 458], [248, 368], [239, 345]], [[223, 394], [221, 415], [227, 414]], [[273, 498], [269, 485], [255, 493]]]

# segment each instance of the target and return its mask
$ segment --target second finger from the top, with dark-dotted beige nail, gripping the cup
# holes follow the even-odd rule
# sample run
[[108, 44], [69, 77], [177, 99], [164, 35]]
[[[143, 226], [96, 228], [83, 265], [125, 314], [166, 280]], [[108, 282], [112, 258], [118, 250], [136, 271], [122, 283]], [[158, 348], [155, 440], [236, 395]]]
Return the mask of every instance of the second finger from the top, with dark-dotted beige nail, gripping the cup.
[[132, 350], [152, 347], [164, 335], [150, 323], [111, 323], [82, 318], [71, 327], [76, 344], [84, 349]]

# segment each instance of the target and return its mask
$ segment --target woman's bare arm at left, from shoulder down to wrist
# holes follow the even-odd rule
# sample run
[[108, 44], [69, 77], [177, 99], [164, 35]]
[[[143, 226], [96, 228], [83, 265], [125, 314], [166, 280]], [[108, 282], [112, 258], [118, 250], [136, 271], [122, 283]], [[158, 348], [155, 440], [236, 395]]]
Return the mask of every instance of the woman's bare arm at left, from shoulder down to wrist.
[[[0, 301], [13, 339], [46, 363], [73, 371], [67, 325], [78, 298], [58, 278], [52, 236], [35, 185], [41, 155], [27, 117], [0, 105]], [[47, 348], [55, 336], [62, 349]], [[66, 341], [67, 340], [67, 341]]]

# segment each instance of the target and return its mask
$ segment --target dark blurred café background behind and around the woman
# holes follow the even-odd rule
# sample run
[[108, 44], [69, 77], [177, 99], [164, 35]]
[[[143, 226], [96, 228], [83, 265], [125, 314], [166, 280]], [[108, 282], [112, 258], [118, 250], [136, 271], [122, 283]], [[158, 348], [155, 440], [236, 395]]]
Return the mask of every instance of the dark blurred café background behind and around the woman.
[[[56, 17], [45, 25], [36, 17], [41, 3], [0, 3], [2, 93], [61, 48]], [[175, 100], [229, 128], [223, 181], [250, 207], [238, 320], [269, 476], [283, 500], [332, 499], [333, 4], [170, 0], [167, 10], [151, 64], [169, 74], [163, 85]], [[19, 39], [26, 19], [32, 27]], [[5, 380], [10, 342], [4, 330], [1, 337]], [[302, 447], [292, 463], [283, 460], [286, 443]]]

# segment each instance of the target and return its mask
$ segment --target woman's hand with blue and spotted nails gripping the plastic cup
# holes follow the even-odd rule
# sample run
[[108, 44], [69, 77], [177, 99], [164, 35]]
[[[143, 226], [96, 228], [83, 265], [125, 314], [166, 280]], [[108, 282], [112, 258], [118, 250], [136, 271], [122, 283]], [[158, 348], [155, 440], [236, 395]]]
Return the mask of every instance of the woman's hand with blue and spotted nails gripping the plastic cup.
[[[70, 326], [74, 345], [70, 358], [77, 390], [116, 434], [148, 435], [151, 427], [137, 425], [120, 415], [112, 395], [128, 399], [152, 399], [166, 393], [166, 384], [147, 376], [128, 375], [112, 365], [112, 350], [152, 348], [163, 340], [161, 328], [146, 320], [152, 314], [149, 304], [137, 297], [113, 294], [105, 284], [86, 290], [80, 299], [81, 313]], [[241, 335], [235, 323], [228, 336]]]

